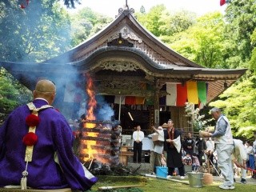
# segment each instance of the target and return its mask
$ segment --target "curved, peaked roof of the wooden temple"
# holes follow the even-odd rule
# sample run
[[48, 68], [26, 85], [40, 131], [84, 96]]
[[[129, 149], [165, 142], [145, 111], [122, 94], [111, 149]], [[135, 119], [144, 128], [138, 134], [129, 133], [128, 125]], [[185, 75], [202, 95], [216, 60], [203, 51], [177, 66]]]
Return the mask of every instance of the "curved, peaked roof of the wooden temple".
[[[129, 42], [130, 46], [110, 46], [110, 42], [118, 40]], [[107, 77], [110, 80], [120, 76], [130, 79], [130, 74], [126, 74], [127, 77], [122, 74], [130, 70], [141, 71], [136, 75], [141, 75], [138, 81], [142, 82], [156, 78], [162, 84], [203, 81], [208, 83], [207, 102], [246, 72], [246, 69], [210, 69], [191, 62], [143, 28], [129, 7], [120, 11], [98, 34], [56, 58], [41, 63], [0, 62], [0, 66], [30, 89], [38, 77], [65, 78], [67, 74], [97, 74], [99, 71], [103, 77], [109, 75], [104, 71], [112, 71], [111, 78]], [[97, 75], [95, 78], [97, 80]]]

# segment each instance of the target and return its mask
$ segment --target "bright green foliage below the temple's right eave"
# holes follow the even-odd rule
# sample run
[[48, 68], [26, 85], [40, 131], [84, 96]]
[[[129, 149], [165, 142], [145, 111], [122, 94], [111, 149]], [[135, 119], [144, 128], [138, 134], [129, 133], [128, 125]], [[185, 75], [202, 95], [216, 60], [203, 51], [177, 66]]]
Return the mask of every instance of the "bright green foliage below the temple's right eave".
[[231, 86], [220, 99], [211, 102], [210, 106], [218, 106], [229, 118], [234, 136], [253, 138], [256, 131], [256, 76], [251, 76]]

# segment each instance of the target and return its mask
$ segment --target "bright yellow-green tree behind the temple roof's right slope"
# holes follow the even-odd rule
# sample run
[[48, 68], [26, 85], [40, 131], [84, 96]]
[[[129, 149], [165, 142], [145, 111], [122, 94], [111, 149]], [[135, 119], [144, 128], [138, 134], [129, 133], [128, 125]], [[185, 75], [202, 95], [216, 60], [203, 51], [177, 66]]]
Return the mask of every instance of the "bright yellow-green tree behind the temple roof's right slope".
[[225, 23], [219, 12], [203, 15], [193, 26], [175, 34], [170, 47], [190, 60], [209, 68], [224, 68], [223, 30]]

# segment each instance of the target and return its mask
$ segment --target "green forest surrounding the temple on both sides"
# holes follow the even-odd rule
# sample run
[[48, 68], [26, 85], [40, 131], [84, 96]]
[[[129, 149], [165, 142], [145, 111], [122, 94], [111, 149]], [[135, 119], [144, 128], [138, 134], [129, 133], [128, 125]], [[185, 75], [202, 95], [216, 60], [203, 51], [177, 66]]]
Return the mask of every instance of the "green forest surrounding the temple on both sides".
[[[0, 60], [43, 62], [70, 50], [102, 30], [113, 18], [86, 7], [70, 14], [71, 0], [38, 0], [21, 9], [22, 0], [0, 2]], [[79, 5], [78, 5], [79, 6]], [[132, 6], [131, 6], [132, 7]], [[117, 13], [113, 13], [118, 14]], [[135, 10], [147, 30], [171, 49], [209, 68], [248, 68], [246, 74], [209, 106], [222, 108], [234, 135], [253, 138], [256, 131], [256, 1], [232, 0], [225, 14], [198, 17], [164, 5]], [[1, 69], [0, 124], [11, 110], [30, 101], [30, 90]]]

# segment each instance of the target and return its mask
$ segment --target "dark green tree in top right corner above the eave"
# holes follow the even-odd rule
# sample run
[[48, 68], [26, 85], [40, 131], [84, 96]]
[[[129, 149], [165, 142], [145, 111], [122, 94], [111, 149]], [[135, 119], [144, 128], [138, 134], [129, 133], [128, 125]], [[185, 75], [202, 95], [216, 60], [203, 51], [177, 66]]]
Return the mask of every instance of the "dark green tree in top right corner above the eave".
[[225, 38], [230, 43], [226, 46], [226, 62], [230, 67], [248, 67], [252, 50], [250, 36], [256, 26], [255, 0], [232, 0], [226, 8]]

